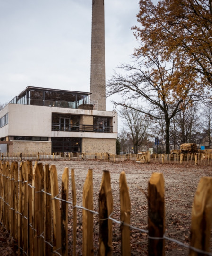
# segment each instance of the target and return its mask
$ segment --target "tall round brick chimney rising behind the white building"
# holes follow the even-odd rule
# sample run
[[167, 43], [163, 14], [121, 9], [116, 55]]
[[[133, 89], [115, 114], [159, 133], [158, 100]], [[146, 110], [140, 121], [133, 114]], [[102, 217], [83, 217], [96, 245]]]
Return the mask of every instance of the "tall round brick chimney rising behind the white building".
[[92, 0], [90, 103], [106, 110], [104, 0]]

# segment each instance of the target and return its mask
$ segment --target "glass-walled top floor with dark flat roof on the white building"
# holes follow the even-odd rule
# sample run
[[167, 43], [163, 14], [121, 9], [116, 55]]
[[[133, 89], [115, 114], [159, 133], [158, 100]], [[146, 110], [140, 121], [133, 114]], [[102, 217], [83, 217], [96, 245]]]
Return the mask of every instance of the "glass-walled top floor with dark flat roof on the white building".
[[89, 94], [88, 92], [27, 87], [9, 103], [77, 109], [81, 104], [89, 104]]

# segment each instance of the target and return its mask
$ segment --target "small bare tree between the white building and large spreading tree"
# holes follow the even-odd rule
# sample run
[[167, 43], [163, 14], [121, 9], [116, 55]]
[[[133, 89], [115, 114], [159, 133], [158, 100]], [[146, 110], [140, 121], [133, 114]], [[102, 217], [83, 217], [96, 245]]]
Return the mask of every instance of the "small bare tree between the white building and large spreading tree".
[[[139, 109], [141, 110], [141, 108]], [[140, 111], [132, 108], [122, 107], [119, 113], [120, 117], [124, 119], [124, 124], [132, 136], [134, 153], [138, 153], [138, 146], [144, 142], [147, 131], [150, 128], [150, 119]]]

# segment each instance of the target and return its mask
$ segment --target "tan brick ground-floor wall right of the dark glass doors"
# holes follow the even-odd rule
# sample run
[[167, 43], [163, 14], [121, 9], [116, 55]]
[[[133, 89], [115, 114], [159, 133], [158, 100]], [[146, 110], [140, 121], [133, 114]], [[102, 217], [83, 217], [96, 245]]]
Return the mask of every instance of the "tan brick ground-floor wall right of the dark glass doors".
[[82, 152], [86, 153], [116, 153], [115, 139], [83, 138]]

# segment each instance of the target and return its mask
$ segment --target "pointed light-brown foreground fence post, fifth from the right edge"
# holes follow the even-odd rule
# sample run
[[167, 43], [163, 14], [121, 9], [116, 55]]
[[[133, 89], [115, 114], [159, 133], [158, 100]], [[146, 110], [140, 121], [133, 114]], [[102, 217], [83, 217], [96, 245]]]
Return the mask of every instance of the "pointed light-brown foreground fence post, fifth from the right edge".
[[[89, 169], [83, 187], [83, 207], [93, 210], [93, 170]], [[82, 210], [82, 255], [94, 255], [93, 213]]]

